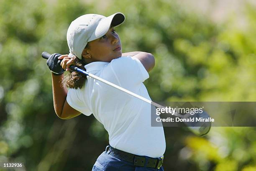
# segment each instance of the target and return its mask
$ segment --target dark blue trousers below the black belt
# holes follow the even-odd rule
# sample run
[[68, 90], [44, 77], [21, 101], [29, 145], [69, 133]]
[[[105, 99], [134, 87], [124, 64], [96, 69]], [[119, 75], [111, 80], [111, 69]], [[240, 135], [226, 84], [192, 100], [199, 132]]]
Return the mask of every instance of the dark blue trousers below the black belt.
[[[146, 163], [148, 161], [148, 156], [146, 157]], [[164, 171], [163, 166], [161, 168], [148, 168], [146, 166], [139, 167], [133, 166], [133, 163], [120, 160], [113, 156], [110, 156], [106, 151], [102, 152], [97, 158], [97, 161], [92, 167], [92, 171]]]

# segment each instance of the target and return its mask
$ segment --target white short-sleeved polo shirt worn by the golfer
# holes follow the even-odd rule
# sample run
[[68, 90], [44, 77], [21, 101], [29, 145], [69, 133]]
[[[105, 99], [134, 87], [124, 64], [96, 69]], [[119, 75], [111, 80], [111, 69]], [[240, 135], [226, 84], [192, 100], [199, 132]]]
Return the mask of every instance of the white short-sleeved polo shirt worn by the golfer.
[[[143, 82], [149, 78], [141, 61], [122, 56], [111, 62], [92, 62], [87, 72], [151, 100]], [[87, 76], [81, 89], [69, 89], [67, 102], [84, 115], [93, 114], [119, 150], [141, 156], [160, 157], [166, 143], [163, 127], [151, 127], [151, 105]]]

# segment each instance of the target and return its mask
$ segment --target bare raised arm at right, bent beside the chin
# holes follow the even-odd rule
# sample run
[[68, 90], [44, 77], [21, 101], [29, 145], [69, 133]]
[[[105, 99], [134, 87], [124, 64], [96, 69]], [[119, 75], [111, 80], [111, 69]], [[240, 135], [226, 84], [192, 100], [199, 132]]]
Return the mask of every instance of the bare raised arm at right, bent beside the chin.
[[122, 56], [133, 56], [136, 57], [138, 60], [141, 61], [145, 69], [149, 72], [151, 71], [154, 66], [155, 66], [155, 57], [147, 52], [140, 52], [140, 51], [135, 51], [135, 52], [127, 52], [123, 53]]

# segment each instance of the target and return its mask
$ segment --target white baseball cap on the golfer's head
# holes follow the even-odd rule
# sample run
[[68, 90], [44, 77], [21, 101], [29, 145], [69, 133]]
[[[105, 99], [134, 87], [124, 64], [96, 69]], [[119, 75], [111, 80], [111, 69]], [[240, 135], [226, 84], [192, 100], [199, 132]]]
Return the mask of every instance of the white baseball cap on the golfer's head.
[[125, 20], [123, 13], [115, 13], [108, 17], [98, 14], [86, 14], [78, 17], [70, 24], [67, 31], [69, 57], [82, 59], [82, 51], [88, 42], [104, 36], [112, 24], [119, 26]]

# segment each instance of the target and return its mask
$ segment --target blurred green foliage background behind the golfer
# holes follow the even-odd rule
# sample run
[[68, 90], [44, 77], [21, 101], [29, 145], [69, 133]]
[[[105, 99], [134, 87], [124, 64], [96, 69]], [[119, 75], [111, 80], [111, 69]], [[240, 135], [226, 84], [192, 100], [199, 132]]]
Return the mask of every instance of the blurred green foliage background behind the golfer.
[[[145, 84], [154, 101], [255, 101], [256, 10], [216, 24], [168, 0], [1, 0], [0, 162], [27, 171], [90, 171], [108, 145], [95, 118], [60, 120], [42, 51], [68, 53], [67, 28], [86, 13], [122, 12], [123, 52], [154, 54]], [[199, 138], [164, 128], [166, 171], [255, 171], [256, 128], [212, 128]], [[9, 169], [10, 170], [10, 169]], [[0, 171], [7, 171], [0, 167]]]

